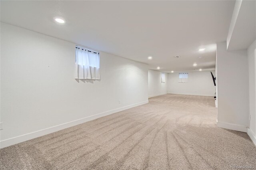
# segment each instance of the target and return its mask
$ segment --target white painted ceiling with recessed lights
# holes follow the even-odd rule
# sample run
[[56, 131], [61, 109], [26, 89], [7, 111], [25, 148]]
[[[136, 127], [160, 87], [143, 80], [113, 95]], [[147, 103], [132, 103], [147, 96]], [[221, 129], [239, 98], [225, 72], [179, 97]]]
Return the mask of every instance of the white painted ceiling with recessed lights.
[[[215, 69], [216, 42], [226, 41], [235, 1], [0, 3], [1, 22], [147, 63], [150, 69], [193, 71]], [[55, 16], [66, 24], [56, 24]]]

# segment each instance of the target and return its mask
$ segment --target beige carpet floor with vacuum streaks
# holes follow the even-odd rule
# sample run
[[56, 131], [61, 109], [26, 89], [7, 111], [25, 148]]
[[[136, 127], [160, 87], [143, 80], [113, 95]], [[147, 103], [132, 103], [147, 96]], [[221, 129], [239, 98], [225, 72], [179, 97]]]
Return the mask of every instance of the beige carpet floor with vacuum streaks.
[[213, 97], [149, 103], [0, 150], [1, 169], [210, 170], [253, 165], [244, 132], [216, 127]]

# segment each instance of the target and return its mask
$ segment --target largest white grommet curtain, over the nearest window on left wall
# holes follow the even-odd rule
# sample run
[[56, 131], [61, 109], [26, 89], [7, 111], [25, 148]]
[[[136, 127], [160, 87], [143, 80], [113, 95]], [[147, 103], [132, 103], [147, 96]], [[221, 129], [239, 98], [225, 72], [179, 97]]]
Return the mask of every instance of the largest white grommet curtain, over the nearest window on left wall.
[[98, 52], [76, 47], [75, 79], [100, 79], [100, 54]]

